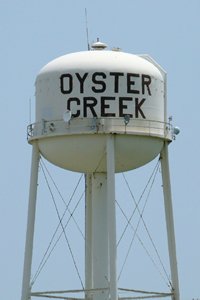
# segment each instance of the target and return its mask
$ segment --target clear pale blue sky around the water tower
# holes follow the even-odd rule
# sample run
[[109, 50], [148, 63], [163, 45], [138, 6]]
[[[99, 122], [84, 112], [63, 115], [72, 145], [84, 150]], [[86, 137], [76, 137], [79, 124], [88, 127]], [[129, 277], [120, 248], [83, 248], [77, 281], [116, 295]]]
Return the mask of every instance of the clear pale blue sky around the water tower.
[[[181, 128], [181, 134], [170, 145], [181, 299], [200, 298], [199, 0], [1, 0], [1, 297], [14, 300], [20, 299], [21, 294], [31, 164], [31, 146], [26, 142], [26, 126], [30, 123], [30, 99], [31, 120], [34, 121], [35, 77], [50, 60], [65, 53], [87, 49], [85, 8], [88, 13], [90, 42], [99, 37], [109, 47], [120, 47], [123, 51], [134, 54], [148, 53], [167, 71], [168, 115], [173, 115], [174, 125]], [[52, 169], [52, 166], [49, 168]], [[150, 167], [147, 168], [147, 174], [150, 170]], [[142, 170], [137, 170], [127, 175], [133, 183], [135, 193], [137, 185], [134, 185], [134, 178], [138, 179], [138, 186], [141, 186], [144, 178], [141, 172]], [[54, 169], [53, 173], [61, 189], [67, 187], [69, 197], [80, 175]], [[42, 184], [40, 187], [39, 194], [42, 199], [46, 199]], [[121, 189], [118, 194], [123, 195]], [[158, 207], [162, 216], [160, 202], [149, 207], [149, 214], [154, 215]], [[53, 230], [56, 226], [56, 221], [55, 224], [50, 222], [47, 225], [47, 219], [55, 214], [52, 209], [45, 206], [43, 201], [38, 205], [37, 228], [46, 230], [44, 234], [50, 232], [51, 235], [50, 229]], [[81, 209], [79, 214], [81, 218]], [[77, 213], [77, 217], [79, 214]], [[150, 215], [147, 213], [151, 224]], [[163, 236], [164, 225], [159, 227], [153, 224], [152, 227], [155, 235]], [[43, 239], [42, 231], [38, 235], [35, 244]], [[160, 245], [163, 255], [166, 254], [164, 243]], [[75, 248], [77, 247], [75, 244]], [[37, 250], [36, 246], [35, 248]], [[41, 252], [42, 250], [39, 249]], [[59, 251], [62, 253], [62, 247]], [[136, 255], [139, 260], [142, 254], [138, 250], [138, 253], [133, 253], [133, 257]], [[34, 257], [34, 261], [36, 260], [37, 255]], [[144, 262], [142, 256], [141, 261]], [[64, 262], [59, 259], [57, 265], [62, 269]], [[61, 270], [59, 267], [58, 270]], [[144, 273], [146, 269], [143, 268], [144, 265], [141, 267]], [[136, 277], [142, 277], [139, 271]], [[49, 285], [56, 283], [50, 272], [44, 280]], [[148, 282], [148, 279], [143, 281]], [[133, 283], [134, 288], [137, 288], [136, 283], [137, 280]], [[138, 279], [138, 285], [143, 288], [142, 280], [140, 282]], [[162, 283], [158, 284], [158, 289], [159, 287], [162, 289]]]

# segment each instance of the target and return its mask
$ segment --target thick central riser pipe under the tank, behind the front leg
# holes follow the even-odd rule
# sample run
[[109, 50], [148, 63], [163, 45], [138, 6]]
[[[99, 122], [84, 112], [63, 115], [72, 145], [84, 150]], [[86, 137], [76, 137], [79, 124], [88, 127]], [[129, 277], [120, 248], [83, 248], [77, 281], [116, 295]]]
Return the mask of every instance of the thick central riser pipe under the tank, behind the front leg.
[[92, 266], [93, 288], [105, 289], [95, 300], [107, 299], [109, 287], [107, 174], [92, 174]]

